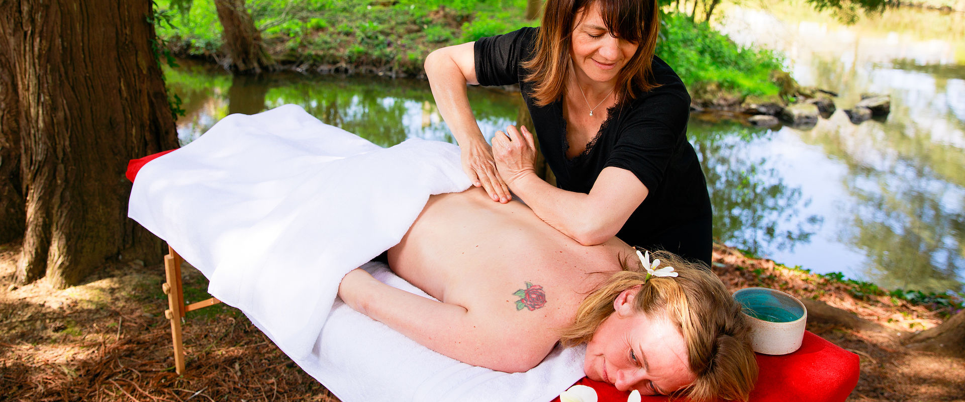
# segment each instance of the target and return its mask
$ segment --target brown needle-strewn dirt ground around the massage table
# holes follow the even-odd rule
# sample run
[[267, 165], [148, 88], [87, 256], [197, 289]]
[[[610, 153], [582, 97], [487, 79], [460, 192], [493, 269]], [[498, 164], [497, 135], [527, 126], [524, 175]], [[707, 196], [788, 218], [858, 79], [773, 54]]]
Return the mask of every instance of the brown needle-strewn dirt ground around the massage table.
[[[188, 312], [188, 372], [176, 374], [162, 266], [119, 261], [69, 289], [43, 281], [17, 287], [18, 254], [17, 244], [0, 245], [0, 400], [338, 401], [224, 305]], [[858, 298], [846, 284], [725, 247], [714, 259], [731, 289], [766, 286], [819, 301], [807, 302], [808, 329], [861, 357], [849, 400], [965, 401], [965, 359], [900, 342], [951, 311]], [[185, 302], [207, 299], [205, 278], [187, 266], [183, 272]]]

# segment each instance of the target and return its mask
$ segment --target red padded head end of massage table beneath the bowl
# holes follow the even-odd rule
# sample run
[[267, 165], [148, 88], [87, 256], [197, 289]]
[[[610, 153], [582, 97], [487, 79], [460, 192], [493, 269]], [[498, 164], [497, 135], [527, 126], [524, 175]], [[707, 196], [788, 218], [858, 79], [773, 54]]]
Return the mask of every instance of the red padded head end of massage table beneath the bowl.
[[[858, 385], [858, 355], [824, 338], [804, 333], [796, 352], [784, 356], [758, 354], [758, 386], [750, 402], [843, 401]], [[625, 402], [630, 392], [583, 377], [576, 384], [593, 387], [599, 402]], [[665, 402], [666, 396], [644, 396], [649, 402]], [[687, 401], [688, 399], [679, 399]], [[559, 402], [557, 397], [553, 402]]]

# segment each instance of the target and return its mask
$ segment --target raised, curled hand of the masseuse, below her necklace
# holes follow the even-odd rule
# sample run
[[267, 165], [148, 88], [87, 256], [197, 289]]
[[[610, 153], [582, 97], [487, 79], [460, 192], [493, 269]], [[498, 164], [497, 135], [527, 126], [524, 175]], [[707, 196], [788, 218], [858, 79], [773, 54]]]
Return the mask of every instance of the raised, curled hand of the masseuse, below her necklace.
[[506, 132], [496, 131], [492, 139], [492, 154], [496, 170], [512, 186], [512, 182], [526, 174], [536, 174], [537, 147], [533, 133], [521, 125], [506, 127]]

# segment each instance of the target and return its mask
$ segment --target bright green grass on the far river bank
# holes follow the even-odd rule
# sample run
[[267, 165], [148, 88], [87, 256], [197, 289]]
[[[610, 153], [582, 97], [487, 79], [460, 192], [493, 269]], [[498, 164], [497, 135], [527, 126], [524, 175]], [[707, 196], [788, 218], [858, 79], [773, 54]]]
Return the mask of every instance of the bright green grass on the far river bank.
[[[213, 2], [184, 3], [157, 1], [169, 22], [157, 24], [158, 36], [181, 56], [213, 58], [222, 45]], [[525, 0], [249, 0], [247, 7], [282, 65], [370, 66], [407, 75], [422, 74], [427, 54], [438, 47], [539, 24], [525, 19]], [[781, 69], [778, 55], [740, 47], [680, 14], [665, 15], [657, 54], [698, 96], [778, 94], [770, 79]]]

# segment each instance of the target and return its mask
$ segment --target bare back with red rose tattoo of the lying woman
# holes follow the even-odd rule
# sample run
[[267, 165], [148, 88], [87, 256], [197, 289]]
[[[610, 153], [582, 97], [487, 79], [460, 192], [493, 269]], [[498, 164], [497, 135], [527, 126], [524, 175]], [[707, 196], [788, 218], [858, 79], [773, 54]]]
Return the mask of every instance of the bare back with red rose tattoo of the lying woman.
[[[616, 238], [582, 246], [521, 202], [500, 204], [483, 189], [470, 188], [432, 196], [389, 250], [389, 265], [441, 302], [469, 311], [472, 325], [489, 331], [481, 339], [465, 339], [480, 342], [476, 352], [491, 356], [522, 342], [516, 346], [538, 355], [538, 362], [556, 343], [556, 330], [572, 321], [583, 298], [608, 277], [593, 273], [619, 271], [620, 255], [630, 253]], [[535, 362], [521, 368], [526, 365]]]

